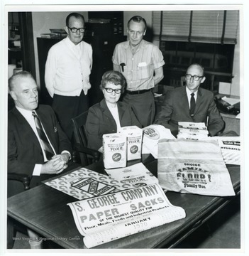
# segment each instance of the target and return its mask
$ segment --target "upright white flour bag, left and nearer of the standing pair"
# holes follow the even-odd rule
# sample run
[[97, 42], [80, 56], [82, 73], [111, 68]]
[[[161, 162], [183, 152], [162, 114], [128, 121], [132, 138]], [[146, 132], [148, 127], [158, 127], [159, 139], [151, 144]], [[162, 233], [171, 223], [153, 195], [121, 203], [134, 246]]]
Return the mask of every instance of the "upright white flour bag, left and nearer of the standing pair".
[[124, 134], [103, 135], [103, 161], [104, 168], [126, 167], [127, 138]]

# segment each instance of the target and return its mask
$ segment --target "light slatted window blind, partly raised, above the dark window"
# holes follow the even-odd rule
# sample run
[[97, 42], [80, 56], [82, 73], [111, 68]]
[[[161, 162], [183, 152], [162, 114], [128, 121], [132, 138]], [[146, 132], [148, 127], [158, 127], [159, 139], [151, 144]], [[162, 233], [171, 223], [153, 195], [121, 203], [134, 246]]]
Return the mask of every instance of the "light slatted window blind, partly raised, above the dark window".
[[237, 43], [238, 10], [153, 11], [153, 31], [160, 41]]

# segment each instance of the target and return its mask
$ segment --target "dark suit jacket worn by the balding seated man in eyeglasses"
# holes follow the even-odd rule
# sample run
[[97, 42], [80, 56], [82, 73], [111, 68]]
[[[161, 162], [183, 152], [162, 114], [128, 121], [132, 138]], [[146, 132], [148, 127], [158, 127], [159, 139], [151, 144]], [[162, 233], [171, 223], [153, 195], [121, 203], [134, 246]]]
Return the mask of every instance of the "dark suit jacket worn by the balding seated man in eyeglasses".
[[225, 124], [217, 110], [213, 92], [200, 87], [194, 117], [191, 117], [185, 86], [166, 93], [162, 110], [155, 118], [155, 124], [162, 124], [170, 129], [174, 136], [178, 133], [178, 122], [204, 122], [211, 136], [221, 132]]

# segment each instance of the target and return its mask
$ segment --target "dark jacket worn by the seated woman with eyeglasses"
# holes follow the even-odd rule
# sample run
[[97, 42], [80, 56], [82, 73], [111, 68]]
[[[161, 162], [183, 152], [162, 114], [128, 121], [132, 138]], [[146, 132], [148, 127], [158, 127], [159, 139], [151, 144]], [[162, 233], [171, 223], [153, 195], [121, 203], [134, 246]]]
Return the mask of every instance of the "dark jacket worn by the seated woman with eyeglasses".
[[[118, 102], [118, 114], [121, 127], [131, 125], [142, 127], [131, 107], [125, 102]], [[101, 102], [89, 108], [86, 131], [88, 147], [91, 149], [99, 149], [102, 146], [103, 134], [117, 132], [116, 122], [106, 105], [106, 100], [101, 100]]]

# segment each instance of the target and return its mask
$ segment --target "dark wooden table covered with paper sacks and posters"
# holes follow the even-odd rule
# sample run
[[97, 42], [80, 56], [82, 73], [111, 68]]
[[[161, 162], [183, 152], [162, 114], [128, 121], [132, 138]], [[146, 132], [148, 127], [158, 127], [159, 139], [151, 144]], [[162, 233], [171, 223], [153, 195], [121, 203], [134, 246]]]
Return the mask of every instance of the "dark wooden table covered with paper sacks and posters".
[[[145, 166], [157, 174], [157, 161], [153, 158], [145, 161]], [[104, 172], [103, 164], [88, 167], [93, 171]], [[236, 196], [240, 194], [240, 166], [228, 166]], [[199, 196], [168, 191], [170, 203], [181, 206], [186, 211], [186, 218], [157, 228], [145, 230], [94, 248], [160, 248], [175, 247], [194, 230], [199, 228], [212, 215], [226, 206], [232, 197]], [[76, 198], [42, 184], [29, 191], [8, 198], [7, 212], [9, 217], [18, 220], [31, 230], [48, 240], [65, 248], [86, 248], [82, 241], [70, 207], [67, 203]]]

